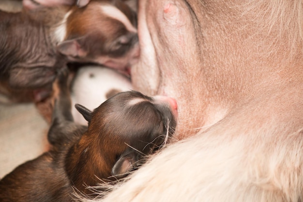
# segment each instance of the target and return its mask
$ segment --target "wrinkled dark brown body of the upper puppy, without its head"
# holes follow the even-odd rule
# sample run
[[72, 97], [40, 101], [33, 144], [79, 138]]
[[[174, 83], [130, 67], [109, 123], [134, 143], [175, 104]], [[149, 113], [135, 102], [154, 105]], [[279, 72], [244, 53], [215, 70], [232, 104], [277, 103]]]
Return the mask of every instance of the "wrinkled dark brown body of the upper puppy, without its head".
[[[49, 38], [50, 28], [24, 13], [0, 11], [0, 77], [13, 87], [44, 87], [64, 63]], [[49, 86], [48, 86], [49, 87]]]

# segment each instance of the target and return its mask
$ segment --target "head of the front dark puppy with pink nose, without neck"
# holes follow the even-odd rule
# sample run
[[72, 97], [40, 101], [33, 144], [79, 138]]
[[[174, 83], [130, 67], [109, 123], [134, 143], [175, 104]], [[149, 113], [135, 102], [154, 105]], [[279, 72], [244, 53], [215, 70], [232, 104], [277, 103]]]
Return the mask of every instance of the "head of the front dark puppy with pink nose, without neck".
[[136, 162], [161, 146], [176, 127], [174, 99], [135, 91], [118, 93], [93, 112], [80, 105], [77, 109], [89, 121], [88, 133], [97, 134], [94, 138], [106, 159], [113, 159], [112, 174], [119, 177], [136, 168]]

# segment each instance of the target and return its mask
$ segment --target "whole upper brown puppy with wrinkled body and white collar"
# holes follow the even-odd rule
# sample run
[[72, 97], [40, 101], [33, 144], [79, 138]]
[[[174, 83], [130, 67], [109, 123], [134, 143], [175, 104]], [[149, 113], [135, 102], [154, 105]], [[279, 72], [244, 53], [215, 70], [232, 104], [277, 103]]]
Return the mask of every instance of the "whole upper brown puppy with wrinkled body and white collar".
[[136, 32], [136, 13], [120, 0], [0, 11], [1, 81], [49, 89], [66, 62], [96, 62], [129, 74], [139, 53]]

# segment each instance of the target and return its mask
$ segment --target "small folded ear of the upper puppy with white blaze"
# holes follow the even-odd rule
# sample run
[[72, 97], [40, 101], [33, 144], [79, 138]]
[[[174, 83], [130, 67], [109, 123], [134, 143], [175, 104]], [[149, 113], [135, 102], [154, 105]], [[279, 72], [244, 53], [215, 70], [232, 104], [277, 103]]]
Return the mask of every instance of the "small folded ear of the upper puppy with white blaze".
[[58, 44], [57, 49], [58, 51], [66, 56], [72, 58], [83, 58], [86, 57], [88, 52], [82, 45], [83, 37], [70, 39], [63, 41]]

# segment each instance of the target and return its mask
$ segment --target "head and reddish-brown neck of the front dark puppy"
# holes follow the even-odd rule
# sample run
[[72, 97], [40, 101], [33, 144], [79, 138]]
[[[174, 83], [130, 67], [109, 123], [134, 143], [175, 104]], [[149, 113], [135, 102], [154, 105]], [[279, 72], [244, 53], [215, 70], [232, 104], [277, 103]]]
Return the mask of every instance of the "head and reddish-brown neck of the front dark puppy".
[[[145, 155], [164, 143], [176, 126], [176, 101], [148, 97], [135, 91], [121, 92], [91, 112], [76, 108], [89, 122], [88, 131], [72, 146], [66, 171], [80, 191], [101, 178], [113, 181], [141, 164]], [[111, 176], [114, 177], [111, 177]]]

